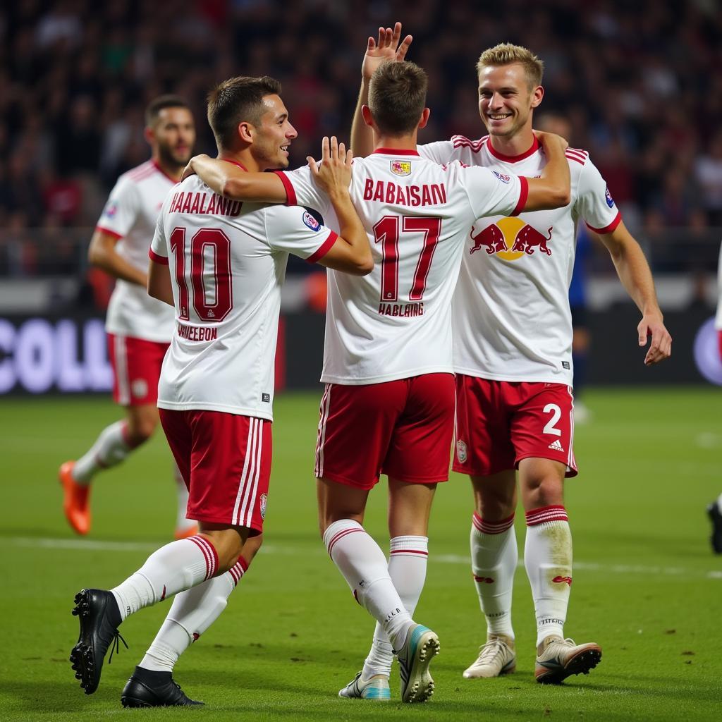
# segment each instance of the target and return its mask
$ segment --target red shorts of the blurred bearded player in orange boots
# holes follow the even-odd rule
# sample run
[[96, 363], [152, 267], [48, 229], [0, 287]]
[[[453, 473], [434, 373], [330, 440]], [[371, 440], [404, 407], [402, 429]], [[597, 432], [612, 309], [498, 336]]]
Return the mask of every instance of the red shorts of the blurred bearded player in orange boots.
[[108, 334], [113, 365], [113, 400], [121, 406], [143, 406], [158, 400], [158, 380], [170, 344]]

